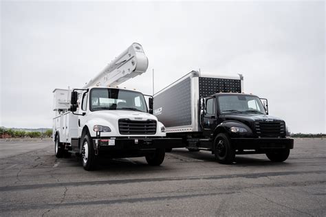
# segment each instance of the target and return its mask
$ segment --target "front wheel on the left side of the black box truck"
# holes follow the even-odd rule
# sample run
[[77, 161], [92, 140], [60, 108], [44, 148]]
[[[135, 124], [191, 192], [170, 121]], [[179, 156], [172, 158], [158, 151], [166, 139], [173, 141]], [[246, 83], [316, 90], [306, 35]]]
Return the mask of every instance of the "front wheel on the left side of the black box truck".
[[214, 155], [219, 163], [229, 164], [235, 161], [235, 148], [228, 135], [219, 133], [214, 139]]

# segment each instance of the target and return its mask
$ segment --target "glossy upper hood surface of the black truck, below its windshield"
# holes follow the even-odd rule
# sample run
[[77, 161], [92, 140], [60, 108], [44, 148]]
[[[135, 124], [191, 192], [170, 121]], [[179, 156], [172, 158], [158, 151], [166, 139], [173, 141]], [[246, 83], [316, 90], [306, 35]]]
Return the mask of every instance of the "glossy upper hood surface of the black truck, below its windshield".
[[224, 115], [223, 119], [225, 121], [234, 120], [237, 122], [242, 122], [243, 124], [251, 125], [253, 122], [283, 122], [283, 119], [279, 117], [273, 117], [271, 115], [260, 115], [260, 114], [230, 114]]

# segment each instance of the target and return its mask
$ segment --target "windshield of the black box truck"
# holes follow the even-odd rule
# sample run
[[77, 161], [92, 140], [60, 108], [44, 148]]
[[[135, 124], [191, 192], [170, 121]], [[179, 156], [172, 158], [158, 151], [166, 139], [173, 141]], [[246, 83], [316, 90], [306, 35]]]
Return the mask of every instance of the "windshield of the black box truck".
[[218, 97], [221, 113], [257, 113], [264, 114], [261, 100], [253, 95], [220, 95]]

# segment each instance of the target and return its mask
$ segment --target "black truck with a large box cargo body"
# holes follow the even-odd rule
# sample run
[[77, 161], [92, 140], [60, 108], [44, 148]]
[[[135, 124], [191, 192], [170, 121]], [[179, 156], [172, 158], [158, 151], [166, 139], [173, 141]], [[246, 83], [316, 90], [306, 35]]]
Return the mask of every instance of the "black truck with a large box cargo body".
[[290, 155], [283, 119], [268, 115], [268, 100], [243, 93], [243, 76], [191, 71], [154, 95], [154, 115], [166, 136], [182, 138], [191, 152], [211, 151], [219, 163], [235, 155], [265, 154], [282, 162]]

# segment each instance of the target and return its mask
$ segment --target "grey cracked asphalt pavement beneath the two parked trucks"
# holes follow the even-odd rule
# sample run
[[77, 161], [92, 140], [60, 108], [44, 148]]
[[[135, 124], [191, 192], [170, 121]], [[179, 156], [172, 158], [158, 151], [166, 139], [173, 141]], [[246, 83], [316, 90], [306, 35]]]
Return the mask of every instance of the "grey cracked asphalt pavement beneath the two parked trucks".
[[176, 149], [162, 165], [101, 159], [83, 170], [52, 141], [0, 142], [0, 216], [326, 216], [326, 139], [296, 139], [283, 163]]

